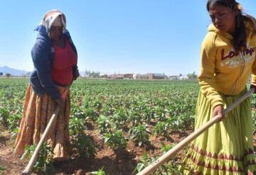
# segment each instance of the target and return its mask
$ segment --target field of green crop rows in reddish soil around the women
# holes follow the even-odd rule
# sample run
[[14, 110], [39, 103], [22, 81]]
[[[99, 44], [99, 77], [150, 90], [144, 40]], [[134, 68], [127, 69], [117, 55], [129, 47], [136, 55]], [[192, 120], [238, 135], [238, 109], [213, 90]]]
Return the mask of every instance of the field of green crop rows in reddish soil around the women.
[[[0, 79], [0, 174], [20, 174], [14, 155], [28, 79]], [[194, 81], [78, 79], [70, 88], [70, 159], [53, 164], [43, 145], [35, 174], [137, 174], [193, 132], [199, 86]], [[255, 95], [251, 97], [256, 126]], [[155, 174], [181, 174], [186, 147]]]

